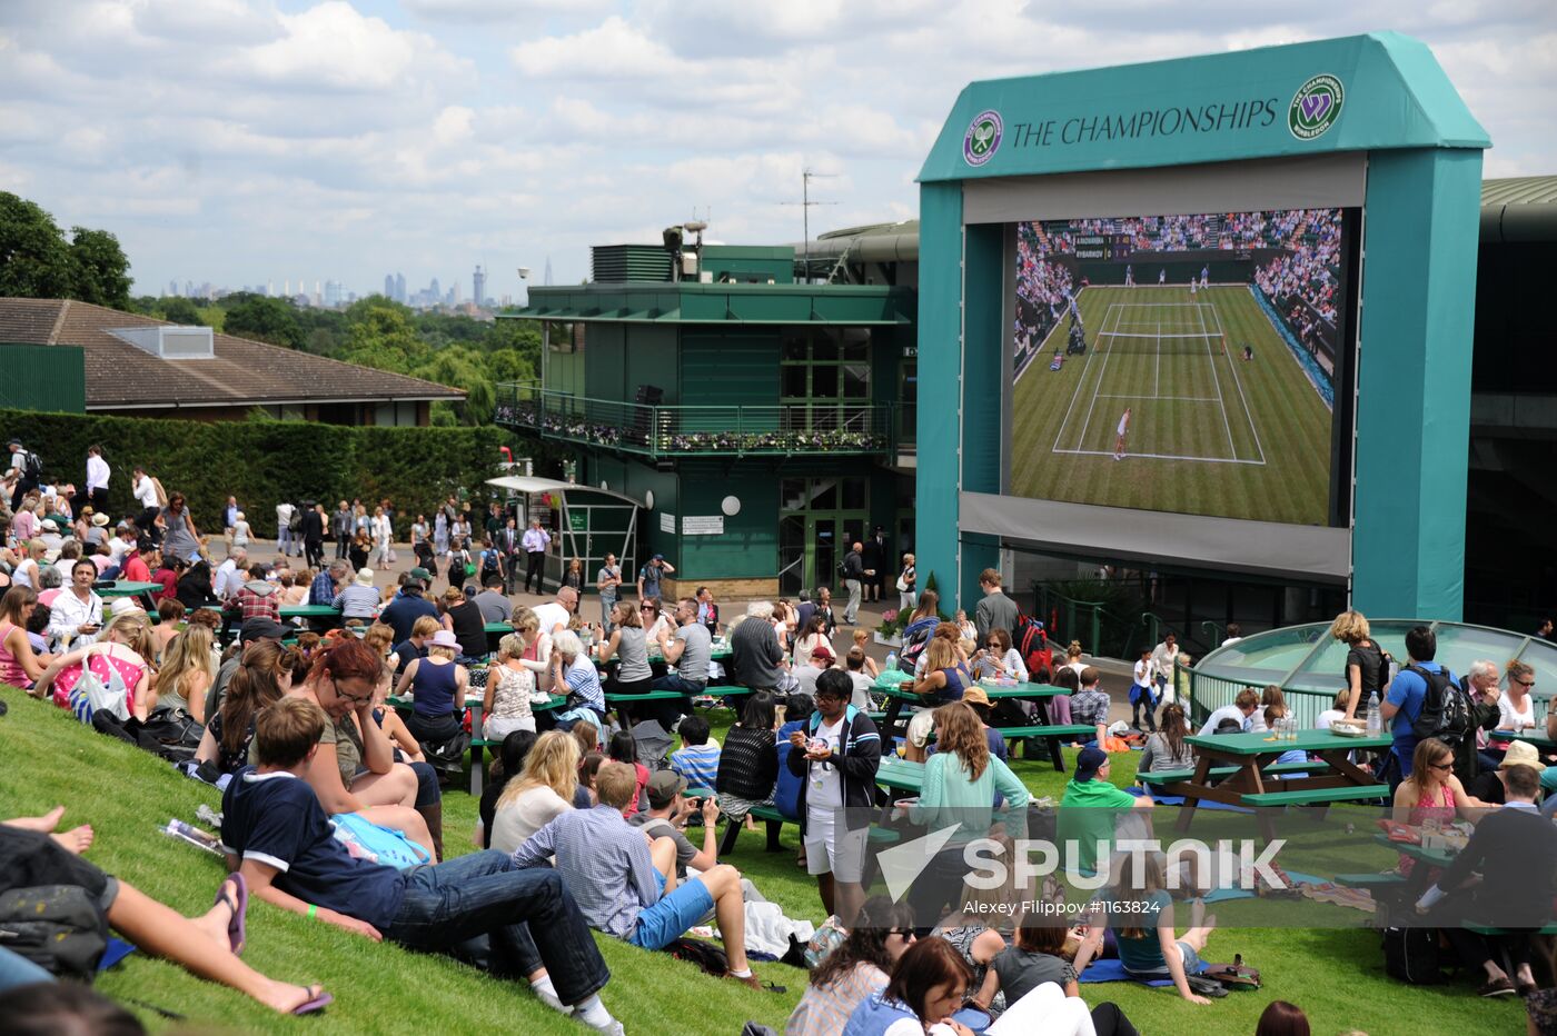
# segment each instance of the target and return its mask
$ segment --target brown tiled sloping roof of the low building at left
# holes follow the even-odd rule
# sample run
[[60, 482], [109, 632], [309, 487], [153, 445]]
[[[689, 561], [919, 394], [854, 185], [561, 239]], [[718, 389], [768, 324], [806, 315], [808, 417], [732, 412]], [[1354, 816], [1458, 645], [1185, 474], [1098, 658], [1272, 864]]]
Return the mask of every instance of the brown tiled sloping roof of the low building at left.
[[0, 342], [79, 345], [87, 409], [462, 400], [459, 389], [344, 364], [234, 334], [213, 334], [215, 355], [162, 359], [112, 333], [176, 327], [69, 299], [0, 299]]

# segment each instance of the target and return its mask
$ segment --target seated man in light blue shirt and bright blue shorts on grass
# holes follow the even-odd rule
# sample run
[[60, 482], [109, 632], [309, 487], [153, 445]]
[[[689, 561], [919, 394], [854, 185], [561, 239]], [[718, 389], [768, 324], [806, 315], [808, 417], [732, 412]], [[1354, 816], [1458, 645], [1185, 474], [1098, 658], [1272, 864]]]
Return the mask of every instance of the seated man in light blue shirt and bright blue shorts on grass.
[[[517, 866], [540, 868], [551, 856], [590, 927], [643, 949], [665, 949], [708, 913], [730, 958], [730, 977], [754, 989], [761, 983], [746, 963], [746, 907], [741, 873], [729, 863], [676, 884], [676, 843], [654, 838], [623, 820], [637, 792], [626, 762], [595, 775], [595, 809], [570, 809], [514, 851]], [[651, 848], [652, 845], [652, 848]]]

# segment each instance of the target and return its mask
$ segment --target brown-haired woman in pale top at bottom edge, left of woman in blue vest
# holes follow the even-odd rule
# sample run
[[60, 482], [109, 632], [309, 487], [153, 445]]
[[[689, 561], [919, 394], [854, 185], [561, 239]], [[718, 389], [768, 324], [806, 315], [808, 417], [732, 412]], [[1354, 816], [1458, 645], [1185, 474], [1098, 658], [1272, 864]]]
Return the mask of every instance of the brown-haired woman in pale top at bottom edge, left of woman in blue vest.
[[785, 1024], [785, 1036], [833, 1036], [859, 1003], [886, 989], [892, 966], [914, 943], [914, 910], [872, 896], [855, 927], [811, 971], [805, 994]]

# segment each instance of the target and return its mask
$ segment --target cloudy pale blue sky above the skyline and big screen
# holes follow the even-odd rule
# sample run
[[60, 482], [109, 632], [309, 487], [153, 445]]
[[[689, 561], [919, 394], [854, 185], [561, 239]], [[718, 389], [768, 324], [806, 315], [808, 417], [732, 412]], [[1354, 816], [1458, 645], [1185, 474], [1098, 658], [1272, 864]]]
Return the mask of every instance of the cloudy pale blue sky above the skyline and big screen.
[[712, 215], [732, 243], [916, 215], [970, 79], [1394, 28], [1557, 173], [1552, 0], [0, 0], [0, 190], [115, 232], [137, 291], [403, 271], [557, 283]]

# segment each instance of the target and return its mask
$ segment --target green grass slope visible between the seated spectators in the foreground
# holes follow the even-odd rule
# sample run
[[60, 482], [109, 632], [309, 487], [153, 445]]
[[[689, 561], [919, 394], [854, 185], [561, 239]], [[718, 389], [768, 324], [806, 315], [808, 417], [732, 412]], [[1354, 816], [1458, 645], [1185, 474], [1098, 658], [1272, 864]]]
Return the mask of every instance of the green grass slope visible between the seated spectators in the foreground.
[[[221, 863], [159, 835], [157, 828], [170, 817], [193, 821], [199, 803], [218, 804], [215, 790], [177, 776], [153, 756], [81, 728], [61, 709], [17, 691], [3, 688], [0, 698], [11, 706], [9, 716], [0, 719], [5, 814], [40, 814], [64, 803], [70, 824], [90, 821], [97, 829], [97, 845], [87, 856], [98, 866], [184, 913], [204, 912], [221, 879]], [[718, 723], [716, 736], [726, 725]], [[1133, 756], [1119, 758], [1113, 779], [1127, 786], [1133, 765]], [[1063, 778], [1046, 764], [1018, 761], [1015, 770], [1037, 795], [1057, 798], [1063, 789]], [[448, 852], [470, 851], [473, 823], [475, 801], [459, 790], [447, 792]], [[814, 885], [794, 866], [796, 842], [796, 832], [786, 828], [786, 851], [768, 854], [761, 834], [743, 834], [730, 862], [791, 916], [821, 921]], [[705, 977], [663, 954], [648, 954], [613, 940], [598, 941], [612, 971], [606, 1003], [629, 1033], [733, 1036], [746, 1019], [782, 1031], [803, 985], [799, 971], [760, 964], [763, 978], [788, 986], [789, 992], [757, 994]], [[1193, 1006], [1172, 994], [1127, 983], [1085, 985], [1082, 996], [1091, 1003], [1115, 1000], [1143, 1033], [1186, 1031], [1196, 1025], [1218, 1033], [1253, 1031], [1260, 1011], [1272, 999], [1302, 1005], [1316, 1034], [1353, 1028], [1372, 1036], [1523, 1031], [1518, 1002], [1479, 1000], [1464, 983], [1406, 988], [1386, 978], [1378, 935], [1369, 930], [1228, 930], [1211, 938], [1207, 958], [1232, 960], [1235, 952], [1264, 971], [1263, 991], [1235, 994], [1211, 1006]], [[98, 988], [109, 996], [184, 1014], [196, 1031], [271, 1033], [313, 1027], [316, 1031], [377, 1034], [473, 1031], [492, 1025], [520, 1033], [585, 1031], [542, 1008], [528, 989], [494, 982], [441, 957], [372, 944], [257, 901], [249, 907], [246, 958], [277, 978], [325, 983], [336, 997], [327, 1020], [274, 1016], [237, 992], [140, 955], [104, 974]], [[151, 1011], [135, 1010], [151, 1028], [170, 1025]], [[1425, 1025], [1423, 1019], [1431, 1022]]]

